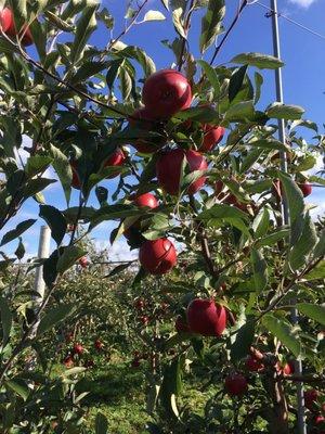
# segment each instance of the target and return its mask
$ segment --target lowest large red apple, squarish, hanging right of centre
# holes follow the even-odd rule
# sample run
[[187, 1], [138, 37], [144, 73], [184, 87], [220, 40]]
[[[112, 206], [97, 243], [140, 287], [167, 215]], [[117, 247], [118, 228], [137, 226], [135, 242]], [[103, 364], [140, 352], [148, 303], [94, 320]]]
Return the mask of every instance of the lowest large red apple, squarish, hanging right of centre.
[[226, 326], [226, 310], [213, 299], [193, 299], [186, 317], [190, 331], [204, 336], [221, 336]]

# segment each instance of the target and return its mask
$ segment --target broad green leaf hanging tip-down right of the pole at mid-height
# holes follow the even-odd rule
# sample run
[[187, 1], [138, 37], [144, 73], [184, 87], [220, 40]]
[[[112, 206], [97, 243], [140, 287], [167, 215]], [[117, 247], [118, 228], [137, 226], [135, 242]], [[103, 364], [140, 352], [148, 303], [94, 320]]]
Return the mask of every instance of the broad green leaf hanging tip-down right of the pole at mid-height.
[[307, 214], [300, 238], [294, 243], [289, 252], [289, 264], [294, 271], [307, 265], [308, 257], [317, 242], [316, 229], [311, 216]]

